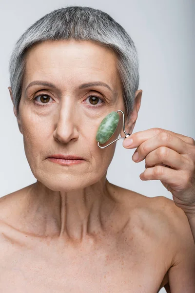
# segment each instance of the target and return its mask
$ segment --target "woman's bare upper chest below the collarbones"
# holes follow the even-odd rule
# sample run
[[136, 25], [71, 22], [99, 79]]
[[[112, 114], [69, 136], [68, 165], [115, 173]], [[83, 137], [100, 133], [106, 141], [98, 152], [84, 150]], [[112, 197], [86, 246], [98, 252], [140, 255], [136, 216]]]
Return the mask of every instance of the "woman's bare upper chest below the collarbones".
[[0, 250], [0, 292], [157, 293], [168, 270], [165, 251], [140, 240], [76, 250], [9, 242]]

